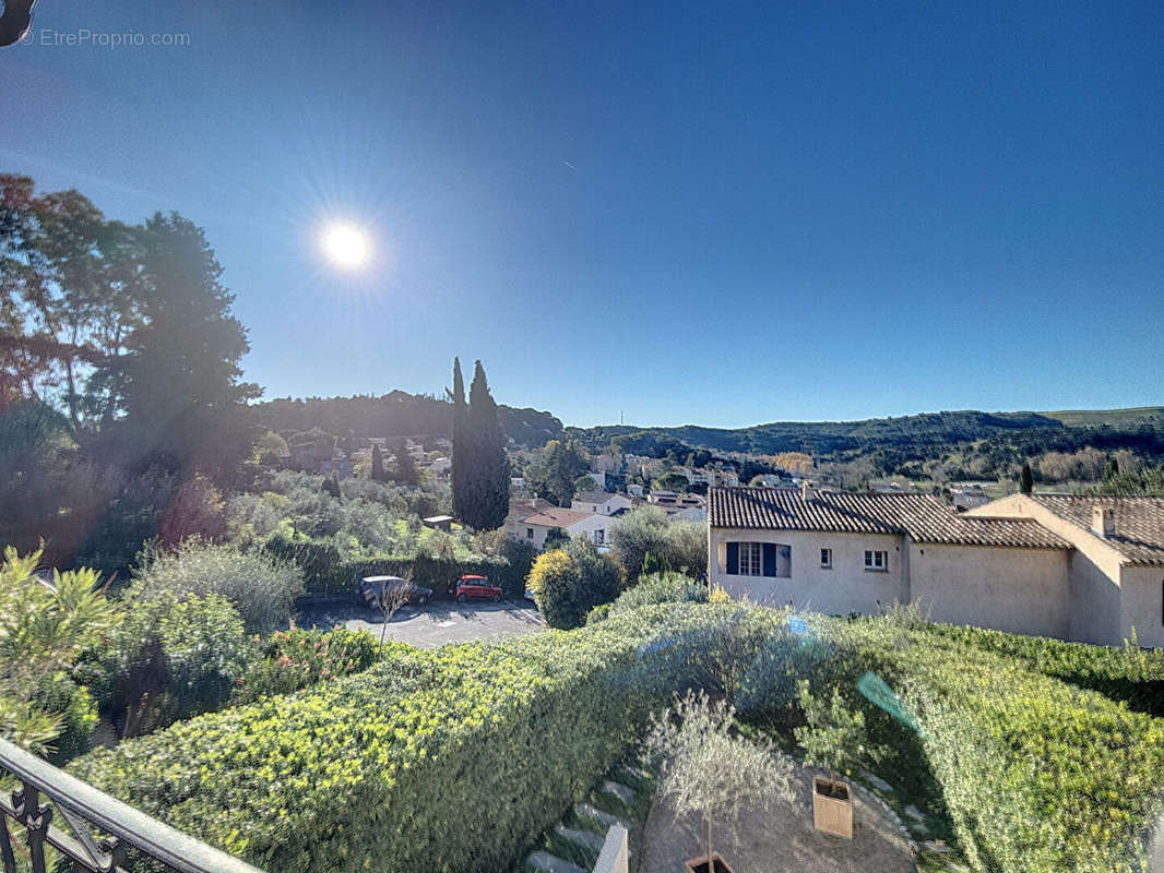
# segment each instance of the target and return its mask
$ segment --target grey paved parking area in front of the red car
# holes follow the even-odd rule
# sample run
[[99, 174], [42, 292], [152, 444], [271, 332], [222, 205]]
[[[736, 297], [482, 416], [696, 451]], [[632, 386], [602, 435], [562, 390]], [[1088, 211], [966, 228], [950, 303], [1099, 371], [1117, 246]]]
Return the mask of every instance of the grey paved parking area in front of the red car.
[[[368, 631], [379, 639], [384, 616], [356, 602], [313, 604], [299, 611], [299, 627], [334, 627], [341, 624], [354, 631]], [[388, 638], [419, 648], [447, 643], [469, 643], [537, 633], [546, 627], [537, 608], [528, 601], [501, 603], [455, 603], [433, 601], [424, 606], [403, 606], [388, 625]]]

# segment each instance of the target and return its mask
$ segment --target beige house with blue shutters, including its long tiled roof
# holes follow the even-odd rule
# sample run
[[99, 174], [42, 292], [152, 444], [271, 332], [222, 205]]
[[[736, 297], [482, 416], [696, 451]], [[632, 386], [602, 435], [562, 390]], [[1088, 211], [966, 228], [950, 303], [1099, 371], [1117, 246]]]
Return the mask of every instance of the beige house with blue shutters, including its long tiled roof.
[[1072, 545], [1032, 519], [920, 494], [715, 488], [708, 539], [709, 576], [736, 597], [835, 615], [921, 601], [936, 622], [1070, 636]]

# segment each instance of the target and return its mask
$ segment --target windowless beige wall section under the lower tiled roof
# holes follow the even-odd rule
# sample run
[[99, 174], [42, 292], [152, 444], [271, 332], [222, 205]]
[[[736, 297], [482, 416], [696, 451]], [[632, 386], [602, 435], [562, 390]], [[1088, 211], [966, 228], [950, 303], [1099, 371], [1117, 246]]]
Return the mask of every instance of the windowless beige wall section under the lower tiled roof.
[[935, 622], [1065, 638], [1070, 555], [1065, 548], [911, 542], [910, 597]]

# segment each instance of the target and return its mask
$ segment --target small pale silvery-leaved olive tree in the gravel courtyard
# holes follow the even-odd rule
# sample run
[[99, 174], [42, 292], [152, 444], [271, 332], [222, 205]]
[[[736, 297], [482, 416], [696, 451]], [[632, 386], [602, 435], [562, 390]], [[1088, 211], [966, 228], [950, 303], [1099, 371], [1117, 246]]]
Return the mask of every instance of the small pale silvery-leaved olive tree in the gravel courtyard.
[[715, 871], [714, 822], [731, 832], [740, 814], [772, 810], [794, 797], [789, 759], [771, 741], [757, 744], [734, 733], [734, 717], [726, 701], [712, 703], [704, 691], [688, 691], [654, 717], [643, 744], [647, 757], [660, 762], [658, 790], [674, 804], [675, 817], [702, 817], [708, 873]]

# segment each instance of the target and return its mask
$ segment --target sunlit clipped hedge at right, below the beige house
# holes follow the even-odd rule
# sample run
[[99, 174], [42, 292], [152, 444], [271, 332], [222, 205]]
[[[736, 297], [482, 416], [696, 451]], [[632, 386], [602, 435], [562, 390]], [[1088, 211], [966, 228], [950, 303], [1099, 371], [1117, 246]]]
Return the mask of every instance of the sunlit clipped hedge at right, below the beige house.
[[865, 661], [851, 675], [879, 662], [882, 677], [911, 701], [975, 870], [1145, 870], [1145, 839], [1159, 812], [1164, 721], [932, 626], [883, 619], [828, 626]]

